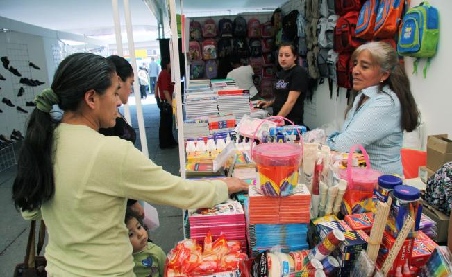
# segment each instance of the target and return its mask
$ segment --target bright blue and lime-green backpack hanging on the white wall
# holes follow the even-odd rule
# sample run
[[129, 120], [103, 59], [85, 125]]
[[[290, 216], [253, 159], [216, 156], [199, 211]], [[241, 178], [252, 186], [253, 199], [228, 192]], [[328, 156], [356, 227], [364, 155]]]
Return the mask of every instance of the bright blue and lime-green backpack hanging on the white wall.
[[430, 58], [435, 55], [437, 50], [438, 36], [440, 35], [438, 24], [438, 10], [430, 6], [428, 2], [410, 8], [403, 17], [397, 51], [399, 55], [417, 57], [414, 62], [414, 73], [417, 72], [419, 58], [427, 57], [424, 78], [426, 78]]

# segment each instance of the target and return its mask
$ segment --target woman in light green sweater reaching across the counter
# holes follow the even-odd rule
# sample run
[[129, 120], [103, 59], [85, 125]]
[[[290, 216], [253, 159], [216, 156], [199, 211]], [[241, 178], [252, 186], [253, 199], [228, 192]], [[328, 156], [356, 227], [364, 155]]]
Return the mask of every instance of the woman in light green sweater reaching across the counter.
[[[126, 199], [180, 208], [224, 202], [246, 190], [238, 179], [188, 181], [162, 170], [129, 141], [98, 133], [121, 105], [115, 66], [91, 53], [65, 58], [35, 98], [12, 199], [26, 219], [47, 225], [50, 276], [134, 276], [124, 224]], [[60, 122], [49, 114], [58, 104]]]

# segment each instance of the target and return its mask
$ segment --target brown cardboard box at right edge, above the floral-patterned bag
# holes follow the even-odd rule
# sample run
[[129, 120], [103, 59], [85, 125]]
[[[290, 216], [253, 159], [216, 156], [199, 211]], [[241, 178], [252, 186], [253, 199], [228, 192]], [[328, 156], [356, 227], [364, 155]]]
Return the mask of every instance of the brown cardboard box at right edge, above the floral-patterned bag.
[[436, 171], [448, 161], [452, 161], [452, 141], [447, 134], [428, 136], [427, 167]]

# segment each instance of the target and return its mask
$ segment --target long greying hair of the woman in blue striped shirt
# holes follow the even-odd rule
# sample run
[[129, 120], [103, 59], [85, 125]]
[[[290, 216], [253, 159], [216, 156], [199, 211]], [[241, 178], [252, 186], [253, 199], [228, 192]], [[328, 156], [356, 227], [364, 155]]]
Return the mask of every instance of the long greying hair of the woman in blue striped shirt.
[[[382, 72], [390, 73], [389, 77], [379, 84], [378, 91], [384, 93], [383, 87], [385, 85], [388, 85], [394, 91], [401, 105], [401, 127], [406, 132], [412, 132], [419, 125], [419, 110], [411, 93], [410, 80], [408, 80], [405, 68], [399, 62], [396, 51], [386, 42], [369, 42], [361, 45], [353, 52], [353, 55], [351, 55], [352, 61], [355, 61], [356, 57], [365, 50], [369, 51], [375, 64], [380, 66]], [[353, 91], [353, 97], [349, 102], [346, 113], [352, 108], [357, 94], [357, 91]]]

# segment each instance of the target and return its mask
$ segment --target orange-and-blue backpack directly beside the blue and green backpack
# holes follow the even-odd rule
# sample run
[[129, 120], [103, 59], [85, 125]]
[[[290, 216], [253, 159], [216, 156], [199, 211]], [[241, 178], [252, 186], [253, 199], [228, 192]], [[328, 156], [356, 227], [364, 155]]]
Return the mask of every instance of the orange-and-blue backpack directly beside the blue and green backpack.
[[404, 0], [381, 0], [375, 19], [374, 36], [380, 39], [394, 37], [403, 12]]

